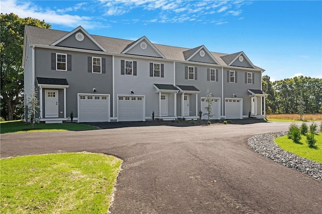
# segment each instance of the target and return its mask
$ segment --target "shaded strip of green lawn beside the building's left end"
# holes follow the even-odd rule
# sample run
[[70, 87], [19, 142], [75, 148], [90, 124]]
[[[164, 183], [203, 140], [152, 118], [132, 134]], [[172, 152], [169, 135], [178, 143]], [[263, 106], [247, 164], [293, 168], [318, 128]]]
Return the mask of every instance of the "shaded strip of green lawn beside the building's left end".
[[95, 130], [99, 129], [95, 126], [77, 123], [63, 123], [63, 124], [35, 124], [32, 130], [31, 124], [26, 125], [25, 122], [19, 121], [5, 121], [0, 123], [0, 133], [12, 132], [45, 132], [45, 131], [81, 131], [81, 130]]

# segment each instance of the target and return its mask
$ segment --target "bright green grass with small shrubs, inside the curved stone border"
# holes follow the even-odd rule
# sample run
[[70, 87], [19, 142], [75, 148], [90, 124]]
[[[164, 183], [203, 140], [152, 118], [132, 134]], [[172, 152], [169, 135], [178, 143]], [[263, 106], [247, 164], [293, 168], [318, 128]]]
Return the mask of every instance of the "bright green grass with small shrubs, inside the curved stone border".
[[322, 163], [322, 133], [315, 135], [315, 148], [309, 148], [306, 143], [306, 136], [301, 135], [299, 143], [294, 143], [287, 135], [278, 137], [274, 141], [283, 150], [294, 153], [299, 157], [310, 159], [312, 161]]

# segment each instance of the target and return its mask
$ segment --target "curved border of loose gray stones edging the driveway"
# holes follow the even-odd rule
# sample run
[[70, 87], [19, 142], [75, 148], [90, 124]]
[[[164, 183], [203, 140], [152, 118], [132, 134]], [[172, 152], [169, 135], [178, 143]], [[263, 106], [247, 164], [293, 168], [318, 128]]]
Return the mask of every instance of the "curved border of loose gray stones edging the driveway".
[[286, 135], [287, 132], [273, 132], [255, 135], [248, 139], [247, 144], [256, 152], [273, 161], [305, 173], [313, 178], [322, 180], [322, 164], [298, 157], [297, 155], [281, 149], [274, 139]]

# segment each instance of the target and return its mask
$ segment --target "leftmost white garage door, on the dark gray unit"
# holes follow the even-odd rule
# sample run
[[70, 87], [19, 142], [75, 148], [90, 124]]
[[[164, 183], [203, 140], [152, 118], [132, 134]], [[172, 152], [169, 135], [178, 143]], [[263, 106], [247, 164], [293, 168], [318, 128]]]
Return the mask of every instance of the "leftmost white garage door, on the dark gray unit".
[[78, 94], [78, 122], [110, 122], [110, 95]]

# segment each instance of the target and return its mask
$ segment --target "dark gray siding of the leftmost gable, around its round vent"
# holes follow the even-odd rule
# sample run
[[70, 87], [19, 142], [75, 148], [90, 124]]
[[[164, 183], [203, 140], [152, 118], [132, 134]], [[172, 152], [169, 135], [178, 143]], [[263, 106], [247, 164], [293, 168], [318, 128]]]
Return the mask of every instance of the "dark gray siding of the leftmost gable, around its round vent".
[[73, 33], [68, 38], [64, 39], [60, 43], [58, 43], [56, 46], [62, 46], [62, 47], [68, 47], [68, 48], [78, 48], [78, 49], [86, 49], [86, 50], [96, 50], [96, 51], [102, 51], [90, 38], [88, 38], [84, 33], [84, 40], [78, 41], [75, 38], [75, 34], [81, 32], [81, 30]]

